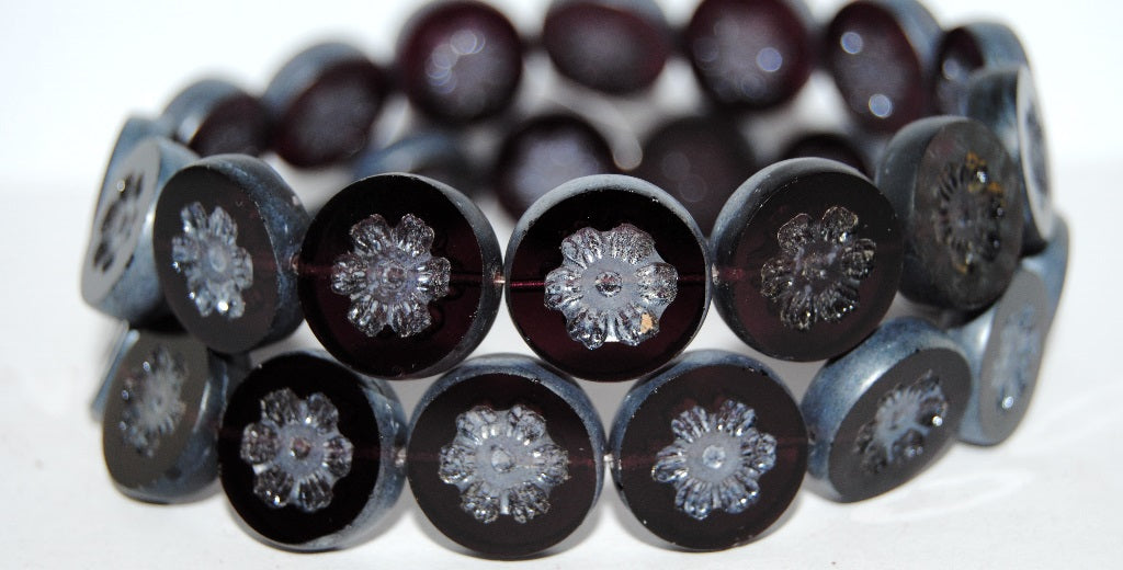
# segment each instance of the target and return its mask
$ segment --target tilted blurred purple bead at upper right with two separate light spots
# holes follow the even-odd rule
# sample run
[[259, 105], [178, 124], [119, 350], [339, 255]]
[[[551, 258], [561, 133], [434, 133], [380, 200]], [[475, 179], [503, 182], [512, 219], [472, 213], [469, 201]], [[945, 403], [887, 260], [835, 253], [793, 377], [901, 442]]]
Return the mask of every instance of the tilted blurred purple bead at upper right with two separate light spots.
[[940, 27], [915, 0], [858, 0], [827, 29], [827, 65], [867, 129], [892, 132], [930, 109]]

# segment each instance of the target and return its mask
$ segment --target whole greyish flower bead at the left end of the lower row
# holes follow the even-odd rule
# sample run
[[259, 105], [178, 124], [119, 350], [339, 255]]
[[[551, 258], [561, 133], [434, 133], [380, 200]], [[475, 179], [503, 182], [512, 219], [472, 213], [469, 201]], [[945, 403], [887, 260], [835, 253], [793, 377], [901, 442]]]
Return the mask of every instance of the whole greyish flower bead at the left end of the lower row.
[[102, 452], [118, 490], [152, 503], [213, 490], [218, 423], [237, 375], [229, 362], [185, 333], [134, 330], [111, 369]]

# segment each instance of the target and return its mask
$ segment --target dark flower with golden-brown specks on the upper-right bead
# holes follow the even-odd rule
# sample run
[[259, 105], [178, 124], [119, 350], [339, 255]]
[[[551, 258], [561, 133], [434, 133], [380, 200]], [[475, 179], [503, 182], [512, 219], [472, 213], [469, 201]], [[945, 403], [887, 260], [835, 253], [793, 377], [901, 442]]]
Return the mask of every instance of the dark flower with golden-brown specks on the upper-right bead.
[[931, 213], [935, 238], [948, 248], [956, 269], [970, 274], [998, 257], [1006, 193], [986, 160], [967, 153], [964, 162], [948, 163], [933, 191], [939, 199]]

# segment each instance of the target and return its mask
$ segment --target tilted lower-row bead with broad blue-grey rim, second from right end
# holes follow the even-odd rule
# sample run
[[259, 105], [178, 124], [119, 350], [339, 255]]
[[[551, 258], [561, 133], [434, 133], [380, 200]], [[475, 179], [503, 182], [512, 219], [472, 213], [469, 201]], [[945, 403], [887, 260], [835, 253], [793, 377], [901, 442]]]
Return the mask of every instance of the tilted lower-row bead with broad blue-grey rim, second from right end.
[[951, 339], [919, 319], [886, 322], [807, 387], [809, 485], [853, 502], [907, 482], [955, 441], [970, 390]]

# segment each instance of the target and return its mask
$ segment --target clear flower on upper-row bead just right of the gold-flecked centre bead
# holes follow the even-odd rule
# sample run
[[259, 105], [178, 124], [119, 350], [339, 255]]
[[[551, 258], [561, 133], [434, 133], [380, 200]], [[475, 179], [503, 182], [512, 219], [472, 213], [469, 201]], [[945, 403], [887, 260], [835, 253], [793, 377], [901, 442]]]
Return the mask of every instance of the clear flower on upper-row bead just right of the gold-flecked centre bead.
[[810, 330], [858, 307], [858, 286], [874, 268], [876, 245], [855, 236], [858, 217], [831, 206], [819, 221], [800, 213], [776, 233], [779, 255], [760, 267], [760, 294], [779, 305], [784, 327]]

